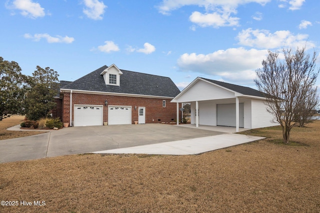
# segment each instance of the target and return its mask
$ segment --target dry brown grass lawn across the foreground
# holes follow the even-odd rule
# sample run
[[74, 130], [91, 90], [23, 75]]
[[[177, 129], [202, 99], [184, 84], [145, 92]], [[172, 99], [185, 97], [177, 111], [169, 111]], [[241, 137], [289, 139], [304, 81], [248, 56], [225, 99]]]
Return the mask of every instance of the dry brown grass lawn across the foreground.
[[0, 200], [19, 203], [0, 212], [319, 213], [320, 121], [294, 128], [291, 145], [274, 143], [278, 127], [250, 134], [268, 138], [192, 156], [71, 155], [0, 164]]

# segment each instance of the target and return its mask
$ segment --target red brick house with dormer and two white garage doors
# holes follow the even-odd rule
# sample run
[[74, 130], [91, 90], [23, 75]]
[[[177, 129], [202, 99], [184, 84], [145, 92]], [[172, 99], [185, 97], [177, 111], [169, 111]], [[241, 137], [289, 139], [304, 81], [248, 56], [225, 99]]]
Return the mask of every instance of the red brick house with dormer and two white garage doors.
[[60, 82], [55, 117], [72, 126], [170, 123], [180, 93], [168, 77], [102, 66], [73, 81]]

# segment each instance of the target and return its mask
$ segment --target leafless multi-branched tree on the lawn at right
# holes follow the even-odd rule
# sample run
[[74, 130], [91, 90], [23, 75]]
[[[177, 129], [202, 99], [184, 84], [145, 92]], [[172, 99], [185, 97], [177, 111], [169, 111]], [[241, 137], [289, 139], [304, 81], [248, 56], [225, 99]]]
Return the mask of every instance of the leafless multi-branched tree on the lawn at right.
[[274, 115], [274, 122], [281, 126], [283, 143], [288, 143], [290, 130], [299, 124], [300, 112], [309, 110], [317, 97], [314, 84], [320, 69], [314, 71], [316, 52], [310, 56], [305, 46], [295, 52], [283, 48], [282, 52], [284, 59], [280, 59], [279, 52], [268, 51], [262, 68], [255, 71], [254, 82], [265, 94], [265, 104]]

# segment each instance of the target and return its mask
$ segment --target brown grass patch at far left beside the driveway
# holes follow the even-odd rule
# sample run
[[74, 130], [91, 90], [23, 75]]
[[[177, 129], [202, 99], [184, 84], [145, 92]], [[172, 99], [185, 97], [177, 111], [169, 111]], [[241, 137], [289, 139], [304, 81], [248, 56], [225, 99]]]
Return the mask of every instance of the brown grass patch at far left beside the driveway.
[[20, 138], [30, 135], [37, 135], [43, 132], [36, 131], [8, 131], [6, 130], [9, 127], [13, 127], [22, 123], [24, 120], [24, 116], [13, 115], [9, 118], [5, 118], [0, 121], [0, 140], [12, 139], [12, 138]]

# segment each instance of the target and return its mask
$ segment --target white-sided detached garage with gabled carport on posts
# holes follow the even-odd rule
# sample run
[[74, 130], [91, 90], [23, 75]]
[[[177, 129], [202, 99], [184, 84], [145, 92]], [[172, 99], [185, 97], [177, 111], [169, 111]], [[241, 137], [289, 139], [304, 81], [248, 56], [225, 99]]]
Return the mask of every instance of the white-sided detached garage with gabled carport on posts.
[[[171, 102], [191, 104], [191, 124], [254, 129], [277, 125], [255, 89], [197, 77]], [[177, 119], [178, 120], [178, 119]]]

